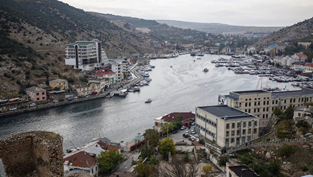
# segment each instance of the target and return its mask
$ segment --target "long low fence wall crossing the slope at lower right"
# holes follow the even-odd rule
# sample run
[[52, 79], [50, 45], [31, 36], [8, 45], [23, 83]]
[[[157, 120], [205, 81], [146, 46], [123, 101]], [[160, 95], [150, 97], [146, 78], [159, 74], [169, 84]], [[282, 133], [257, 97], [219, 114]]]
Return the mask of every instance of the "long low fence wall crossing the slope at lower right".
[[259, 146], [268, 146], [268, 145], [279, 145], [279, 144], [289, 144], [289, 143], [295, 143], [295, 142], [312, 142], [313, 137], [308, 138], [295, 138], [295, 139], [285, 139], [283, 141], [281, 140], [271, 140], [267, 142], [248, 142], [246, 144], [242, 144], [239, 146], [231, 147], [230, 149], [227, 149], [227, 153], [232, 153], [236, 151], [240, 151], [243, 149], [248, 149], [252, 147], [259, 147]]

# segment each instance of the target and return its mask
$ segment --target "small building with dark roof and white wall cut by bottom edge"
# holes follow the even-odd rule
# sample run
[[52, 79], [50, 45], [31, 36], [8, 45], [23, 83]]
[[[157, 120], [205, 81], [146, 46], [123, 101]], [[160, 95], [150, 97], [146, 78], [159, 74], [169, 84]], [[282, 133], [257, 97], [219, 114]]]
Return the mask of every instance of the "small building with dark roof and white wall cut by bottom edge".
[[226, 167], [226, 177], [260, 177], [246, 165]]

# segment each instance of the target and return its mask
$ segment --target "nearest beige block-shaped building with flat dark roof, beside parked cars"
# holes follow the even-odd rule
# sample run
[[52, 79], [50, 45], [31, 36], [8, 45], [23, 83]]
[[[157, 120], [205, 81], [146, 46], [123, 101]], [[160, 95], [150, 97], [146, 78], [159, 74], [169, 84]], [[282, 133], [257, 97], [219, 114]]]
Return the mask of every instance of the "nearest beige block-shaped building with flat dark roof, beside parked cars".
[[196, 107], [195, 131], [220, 147], [258, 138], [258, 122], [258, 117], [227, 105]]

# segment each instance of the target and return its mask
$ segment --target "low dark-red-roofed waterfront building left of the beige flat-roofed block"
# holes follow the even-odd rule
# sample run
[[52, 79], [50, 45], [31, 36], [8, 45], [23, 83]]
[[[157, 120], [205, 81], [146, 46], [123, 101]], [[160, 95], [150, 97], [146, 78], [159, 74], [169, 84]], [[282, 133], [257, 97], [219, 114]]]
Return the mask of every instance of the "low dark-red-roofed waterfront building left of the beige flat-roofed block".
[[193, 121], [195, 121], [195, 114], [192, 112], [175, 112], [175, 113], [166, 114], [159, 118], [155, 118], [155, 125], [161, 126], [165, 123], [170, 123], [172, 121], [179, 121], [176, 118], [176, 116], [178, 115], [182, 116], [182, 119], [180, 120], [181, 126], [188, 127], [189, 125], [191, 125]]

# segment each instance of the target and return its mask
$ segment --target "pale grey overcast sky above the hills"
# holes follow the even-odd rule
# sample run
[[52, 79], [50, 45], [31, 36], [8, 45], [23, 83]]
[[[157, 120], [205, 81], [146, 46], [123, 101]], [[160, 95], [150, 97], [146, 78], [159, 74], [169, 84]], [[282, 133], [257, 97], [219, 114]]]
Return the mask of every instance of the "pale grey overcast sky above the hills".
[[85, 11], [147, 20], [290, 26], [313, 17], [313, 0], [61, 0]]

